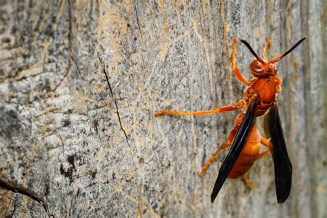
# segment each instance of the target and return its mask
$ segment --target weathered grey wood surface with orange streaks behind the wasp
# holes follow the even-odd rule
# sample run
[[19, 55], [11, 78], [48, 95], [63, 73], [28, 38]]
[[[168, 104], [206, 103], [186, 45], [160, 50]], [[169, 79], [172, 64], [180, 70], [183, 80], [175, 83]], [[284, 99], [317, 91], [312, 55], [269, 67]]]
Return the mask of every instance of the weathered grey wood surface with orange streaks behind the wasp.
[[[273, 163], [249, 191], [210, 192], [227, 154], [197, 177], [241, 99], [231, 39], [278, 63], [293, 188], [277, 205]], [[246, 78], [252, 54], [237, 48]], [[0, 216], [326, 217], [325, 1], [0, 1]], [[259, 122], [257, 122], [259, 126]], [[12, 190], [16, 192], [12, 192]]]

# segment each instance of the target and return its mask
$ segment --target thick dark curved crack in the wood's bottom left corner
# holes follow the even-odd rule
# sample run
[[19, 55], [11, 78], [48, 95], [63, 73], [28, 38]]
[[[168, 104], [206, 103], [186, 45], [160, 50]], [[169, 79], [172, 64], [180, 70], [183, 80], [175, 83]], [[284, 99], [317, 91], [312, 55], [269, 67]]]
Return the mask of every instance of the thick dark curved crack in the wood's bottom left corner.
[[48, 204], [46, 204], [46, 201], [44, 201], [41, 197], [39, 197], [35, 192], [32, 190], [28, 190], [27, 188], [23, 188], [21, 186], [18, 186], [17, 184], [12, 183], [11, 181], [4, 181], [0, 178], [0, 188], [4, 188], [6, 190], [19, 193], [21, 195], [24, 195], [26, 197], [29, 197], [33, 199], [34, 201], [37, 201], [37, 203], [41, 204], [46, 211], [46, 214], [48, 217], [53, 217], [48, 212]]

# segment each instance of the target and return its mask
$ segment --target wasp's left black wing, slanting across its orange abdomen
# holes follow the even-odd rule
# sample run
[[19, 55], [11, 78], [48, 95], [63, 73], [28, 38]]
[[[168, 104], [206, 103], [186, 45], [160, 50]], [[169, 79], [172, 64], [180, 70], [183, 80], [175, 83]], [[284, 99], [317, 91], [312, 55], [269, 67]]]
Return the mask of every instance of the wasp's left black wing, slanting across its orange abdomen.
[[223, 186], [230, 171], [232, 170], [232, 167], [235, 165], [235, 162], [237, 161], [237, 158], [241, 154], [241, 151], [246, 143], [246, 139], [248, 139], [248, 135], [255, 125], [255, 112], [257, 111], [257, 104], [257, 99], [250, 103], [241, 126], [239, 127], [239, 130], [237, 130], [235, 138], [232, 141], [232, 147], [230, 148], [230, 151], [223, 164], [221, 164], [215, 186], [211, 193], [211, 203], [215, 201], [221, 186]]

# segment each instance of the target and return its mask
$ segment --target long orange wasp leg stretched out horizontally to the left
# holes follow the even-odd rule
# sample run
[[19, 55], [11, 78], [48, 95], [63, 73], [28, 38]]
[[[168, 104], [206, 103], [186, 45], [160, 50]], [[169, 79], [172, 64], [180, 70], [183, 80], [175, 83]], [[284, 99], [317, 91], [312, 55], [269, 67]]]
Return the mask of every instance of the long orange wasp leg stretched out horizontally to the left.
[[161, 112], [157, 112], [155, 117], [160, 117], [162, 115], [189, 115], [189, 116], [202, 116], [202, 115], [212, 115], [218, 114], [221, 112], [228, 112], [232, 110], [239, 110], [244, 107], [244, 101], [238, 101], [235, 106], [224, 106], [221, 108], [216, 108], [215, 110], [204, 110], [204, 111], [197, 111], [197, 112], [177, 112], [171, 110], [162, 110]]

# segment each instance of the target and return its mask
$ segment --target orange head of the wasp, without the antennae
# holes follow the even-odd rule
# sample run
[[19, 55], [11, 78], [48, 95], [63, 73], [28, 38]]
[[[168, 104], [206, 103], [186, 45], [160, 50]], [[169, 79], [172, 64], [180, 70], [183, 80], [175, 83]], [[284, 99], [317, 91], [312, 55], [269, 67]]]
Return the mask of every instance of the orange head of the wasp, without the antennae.
[[260, 62], [258, 60], [252, 61], [250, 64], [250, 70], [255, 77], [270, 77], [275, 76], [277, 73], [277, 66], [269, 62]]

